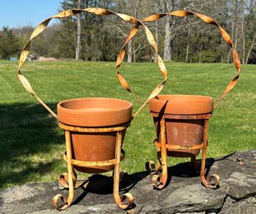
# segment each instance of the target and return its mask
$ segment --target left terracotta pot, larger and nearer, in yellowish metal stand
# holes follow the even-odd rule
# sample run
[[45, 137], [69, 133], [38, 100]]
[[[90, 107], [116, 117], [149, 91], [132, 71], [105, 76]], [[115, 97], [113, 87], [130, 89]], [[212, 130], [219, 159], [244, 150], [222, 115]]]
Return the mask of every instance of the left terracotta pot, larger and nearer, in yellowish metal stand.
[[[58, 103], [58, 120], [74, 127], [116, 127], [130, 122], [133, 104], [113, 98], [78, 98]], [[125, 130], [123, 130], [123, 138]], [[71, 132], [73, 159], [100, 162], [115, 159], [116, 132]], [[107, 167], [76, 167], [87, 173], [113, 170]]]

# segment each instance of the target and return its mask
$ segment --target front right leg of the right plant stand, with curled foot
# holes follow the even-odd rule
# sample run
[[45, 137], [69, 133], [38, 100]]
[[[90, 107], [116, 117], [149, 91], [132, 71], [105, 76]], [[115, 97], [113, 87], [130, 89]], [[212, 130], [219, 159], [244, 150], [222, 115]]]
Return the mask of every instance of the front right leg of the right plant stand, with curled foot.
[[206, 153], [207, 153], [207, 145], [208, 144], [208, 119], [204, 121], [204, 132], [203, 132], [203, 152], [202, 152], [202, 161], [201, 161], [201, 171], [200, 177], [204, 187], [208, 188], [217, 188], [220, 182], [220, 178], [217, 174], [213, 174], [209, 177], [208, 181], [205, 178], [205, 161], [206, 161]]

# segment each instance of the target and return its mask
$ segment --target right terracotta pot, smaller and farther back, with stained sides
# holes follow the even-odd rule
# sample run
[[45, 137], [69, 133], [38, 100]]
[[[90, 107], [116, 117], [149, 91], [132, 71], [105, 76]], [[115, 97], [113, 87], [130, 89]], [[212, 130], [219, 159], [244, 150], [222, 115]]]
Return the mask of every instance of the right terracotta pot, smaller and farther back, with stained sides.
[[[198, 95], [158, 95], [149, 101], [151, 112], [166, 115], [199, 115], [213, 112], [213, 97]], [[159, 139], [161, 117], [153, 117]], [[203, 142], [204, 120], [166, 119], [167, 143], [194, 146]], [[199, 149], [168, 150], [168, 156], [193, 157]]]

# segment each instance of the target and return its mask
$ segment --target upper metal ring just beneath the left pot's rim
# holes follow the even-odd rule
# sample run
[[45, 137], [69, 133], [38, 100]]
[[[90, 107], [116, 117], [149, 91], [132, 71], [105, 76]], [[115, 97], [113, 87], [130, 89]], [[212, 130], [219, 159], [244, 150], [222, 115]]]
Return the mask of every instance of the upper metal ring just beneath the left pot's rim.
[[73, 127], [62, 122], [58, 122], [58, 126], [71, 132], [118, 132], [129, 127], [130, 122], [118, 127]]

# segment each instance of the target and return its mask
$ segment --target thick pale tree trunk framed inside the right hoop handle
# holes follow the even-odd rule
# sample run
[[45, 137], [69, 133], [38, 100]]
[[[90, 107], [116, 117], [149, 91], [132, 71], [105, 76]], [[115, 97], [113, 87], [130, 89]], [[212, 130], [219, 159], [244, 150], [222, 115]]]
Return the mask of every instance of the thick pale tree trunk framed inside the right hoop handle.
[[171, 61], [172, 60], [172, 47], [171, 47], [171, 26], [170, 18], [168, 17], [164, 23], [164, 51], [163, 51], [163, 60]]

